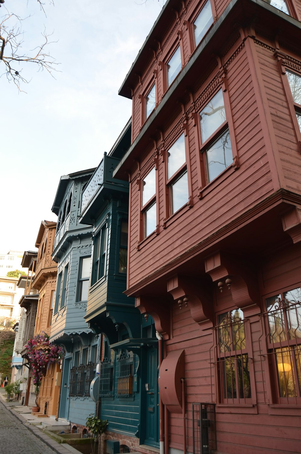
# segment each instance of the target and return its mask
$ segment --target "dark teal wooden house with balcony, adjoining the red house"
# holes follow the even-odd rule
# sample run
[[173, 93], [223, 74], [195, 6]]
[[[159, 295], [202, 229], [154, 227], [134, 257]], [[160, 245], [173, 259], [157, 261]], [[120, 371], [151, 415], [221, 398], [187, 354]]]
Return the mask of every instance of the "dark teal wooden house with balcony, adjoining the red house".
[[[81, 194], [80, 223], [93, 227], [85, 321], [100, 335], [98, 406], [108, 419], [107, 448], [158, 447], [157, 346], [154, 321], [125, 296], [129, 184], [113, 171], [130, 147], [129, 121]], [[149, 411], [148, 411], [149, 410]], [[115, 448], [114, 448], [115, 449]], [[117, 447], [118, 449], [118, 447]], [[135, 450], [135, 449], [134, 449]]]

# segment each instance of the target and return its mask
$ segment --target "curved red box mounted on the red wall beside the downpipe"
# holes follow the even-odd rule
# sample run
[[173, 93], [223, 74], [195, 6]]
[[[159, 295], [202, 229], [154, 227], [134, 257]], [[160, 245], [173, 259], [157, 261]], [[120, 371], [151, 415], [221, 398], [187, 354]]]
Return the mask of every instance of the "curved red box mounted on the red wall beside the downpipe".
[[185, 377], [184, 350], [171, 351], [159, 370], [161, 400], [171, 413], [182, 413], [182, 384]]

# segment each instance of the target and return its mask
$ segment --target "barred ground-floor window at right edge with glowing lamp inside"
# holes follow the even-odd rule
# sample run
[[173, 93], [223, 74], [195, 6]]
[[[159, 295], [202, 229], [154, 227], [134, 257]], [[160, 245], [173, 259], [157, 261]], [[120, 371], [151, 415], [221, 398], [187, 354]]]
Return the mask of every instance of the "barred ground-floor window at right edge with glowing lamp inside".
[[266, 299], [268, 345], [279, 403], [301, 403], [301, 288]]

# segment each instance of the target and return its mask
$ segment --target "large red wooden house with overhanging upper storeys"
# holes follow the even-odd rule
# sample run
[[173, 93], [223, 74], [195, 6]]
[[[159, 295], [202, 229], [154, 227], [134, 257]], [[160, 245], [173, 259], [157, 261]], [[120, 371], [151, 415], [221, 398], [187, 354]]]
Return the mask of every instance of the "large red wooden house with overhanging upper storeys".
[[300, 0], [169, 0], [120, 88], [166, 454], [301, 452], [300, 20]]

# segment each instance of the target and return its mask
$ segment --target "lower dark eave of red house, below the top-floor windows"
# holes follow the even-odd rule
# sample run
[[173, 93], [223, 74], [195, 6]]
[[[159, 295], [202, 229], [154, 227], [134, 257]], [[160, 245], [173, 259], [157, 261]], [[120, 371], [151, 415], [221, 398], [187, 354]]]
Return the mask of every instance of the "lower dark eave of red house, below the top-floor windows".
[[115, 168], [114, 177], [128, 181], [130, 168], [135, 160], [139, 159], [141, 150], [150, 146], [151, 138], [157, 136], [157, 131], [162, 129], [166, 118], [172, 111], [178, 109], [183, 94], [190, 91], [190, 87], [196, 83], [196, 78], [200, 78], [201, 72], [197, 67], [198, 64], [201, 62], [203, 71], [208, 69], [212, 64], [212, 55], [219, 53], [225, 36], [229, 37], [229, 30], [232, 35], [233, 33], [237, 35], [238, 24], [249, 25], [250, 17], [254, 18], [253, 24], [261, 30], [266, 30], [267, 24], [272, 24], [271, 34], [276, 35], [275, 30], [277, 30], [278, 40], [285, 41], [289, 35], [291, 41], [300, 42], [301, 24], [296, 19], [268, 5], [263, 0], [232, 0], [195, 49], [186, 66], [164, 94], [158, 107], [142, 126], [140, 133]]

